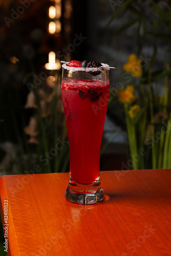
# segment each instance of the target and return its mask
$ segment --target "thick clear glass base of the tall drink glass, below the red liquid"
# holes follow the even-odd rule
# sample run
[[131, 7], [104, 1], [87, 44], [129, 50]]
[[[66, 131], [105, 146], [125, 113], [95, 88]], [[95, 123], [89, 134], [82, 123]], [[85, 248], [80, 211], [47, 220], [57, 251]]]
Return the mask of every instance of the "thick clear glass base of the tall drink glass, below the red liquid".
[[100, 178], [91, 184], [80, 184], [73, 181], [70, 177], [65, 197], [69, 202], [76, 204], [95, 204], [99, 203], [104, 192], [100, 184]]

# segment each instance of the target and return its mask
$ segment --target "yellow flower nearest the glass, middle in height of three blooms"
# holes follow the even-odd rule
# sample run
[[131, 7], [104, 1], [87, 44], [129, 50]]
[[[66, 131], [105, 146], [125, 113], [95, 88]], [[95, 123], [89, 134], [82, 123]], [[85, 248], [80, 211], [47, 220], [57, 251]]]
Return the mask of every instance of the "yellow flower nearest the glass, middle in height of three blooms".
[[137, 98], [134, 95], [134, 87], [133, 86], [127, 86], [126, 89], [121, 89], [118, 91], [118, 100], [121, 103], [132, 103], [134, 102]]

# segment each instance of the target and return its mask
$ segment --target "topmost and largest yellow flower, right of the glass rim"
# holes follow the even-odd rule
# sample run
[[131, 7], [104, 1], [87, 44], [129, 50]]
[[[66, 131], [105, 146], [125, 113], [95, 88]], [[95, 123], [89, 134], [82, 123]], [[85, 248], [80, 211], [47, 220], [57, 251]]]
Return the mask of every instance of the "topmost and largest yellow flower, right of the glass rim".
[[139, 59], [136, 54], [130, 54], [127, 62], [123, 64], [123, 70], [127, 73], [131, 73], [135, 77], [142, 76], [142, 67], [141, 67], [142, 60]]

